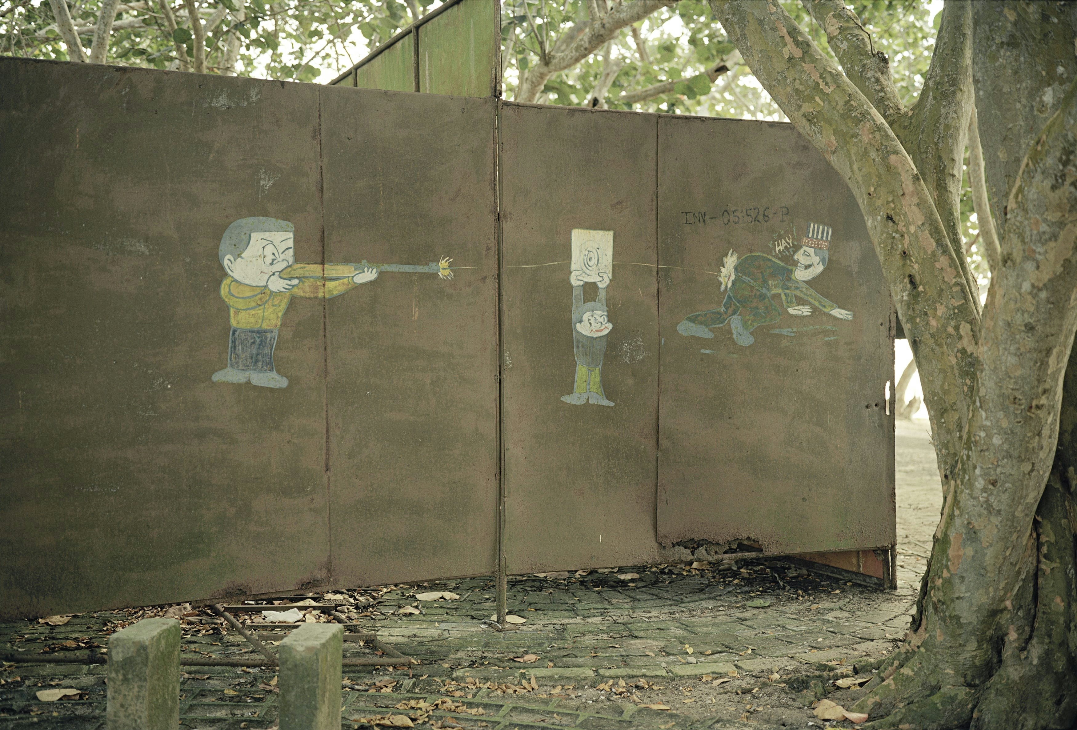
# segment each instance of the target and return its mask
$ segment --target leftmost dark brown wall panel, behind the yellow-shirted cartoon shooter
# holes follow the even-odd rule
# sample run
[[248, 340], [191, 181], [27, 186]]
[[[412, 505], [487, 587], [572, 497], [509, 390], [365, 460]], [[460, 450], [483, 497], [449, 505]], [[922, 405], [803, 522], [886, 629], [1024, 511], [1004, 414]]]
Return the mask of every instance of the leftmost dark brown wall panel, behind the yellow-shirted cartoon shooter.
[[321, 304], [288, 389], [210, 381], [226, 226], [321, 261], [318, 87], [2, 59], [0, 89], [0, 614], [324, 580]]

